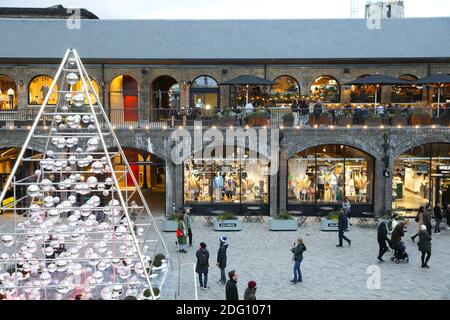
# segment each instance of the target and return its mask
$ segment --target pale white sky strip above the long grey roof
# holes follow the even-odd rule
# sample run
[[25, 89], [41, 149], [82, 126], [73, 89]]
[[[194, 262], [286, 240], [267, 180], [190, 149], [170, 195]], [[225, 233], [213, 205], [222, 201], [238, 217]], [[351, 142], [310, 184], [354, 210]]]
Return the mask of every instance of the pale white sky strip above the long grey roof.
[[[0, 7], [86, 8], [101, 19], [330, 19], [364, 17], [366, 0], [0, 0]], [[406, 17], [450, 16], [450, 0], [404, 0]]]

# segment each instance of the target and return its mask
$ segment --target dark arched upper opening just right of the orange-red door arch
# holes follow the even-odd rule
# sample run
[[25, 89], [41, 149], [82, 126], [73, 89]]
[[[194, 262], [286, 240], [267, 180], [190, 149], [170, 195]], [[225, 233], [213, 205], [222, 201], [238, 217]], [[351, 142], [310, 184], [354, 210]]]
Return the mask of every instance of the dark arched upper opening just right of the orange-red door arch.
[[180, 86], [169, 76], [160, 76], [153, 80], [152, 86], [153, 109], [178, 109], [180, 107]]

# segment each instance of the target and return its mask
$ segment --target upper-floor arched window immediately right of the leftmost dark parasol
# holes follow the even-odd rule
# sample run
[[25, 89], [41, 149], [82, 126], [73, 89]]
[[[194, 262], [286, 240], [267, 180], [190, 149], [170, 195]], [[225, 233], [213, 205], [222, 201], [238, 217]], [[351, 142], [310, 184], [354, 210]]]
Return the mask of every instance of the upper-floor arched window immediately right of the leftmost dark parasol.
[[296, 79], [291, 76], [281, 76], [274, 80], [277, 84], [273, 85], [269, 99], [275, 106], [291, 105], [296, 99], [300, 98], [300, 86]]

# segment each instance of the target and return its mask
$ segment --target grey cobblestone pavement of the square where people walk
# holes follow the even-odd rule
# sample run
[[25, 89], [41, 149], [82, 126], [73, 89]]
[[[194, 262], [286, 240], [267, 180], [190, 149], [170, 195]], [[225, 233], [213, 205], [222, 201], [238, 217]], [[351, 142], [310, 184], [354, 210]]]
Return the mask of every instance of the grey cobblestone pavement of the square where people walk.
[[[267, 219], [266, 219], [267, 220]], [[346, 235], [352, 239], [351, 247], [344, 244], [336, 248], [336, 232], [322, 232], [313, 223], [297, 232], [273, 232], [266, 223], [244, 223], [243, 231], [225, 233], [229, 237], [228, 266], [239, 275], [239, 297], [243, 299], [246, 284], [255, 280], [257, 298], [268, 300], [301, 299], [450, 299], [450, 230], [434, 235], [432, 241], [431, 269], [420, 267], [417, 242], [411, 241], [416, 230], [412, 222], [405, 234], [409, 263], [396, 264], [386, 253], [386, 262], [379, 263], [376, 228], [353, 225]], [[225, 286], [218, 283], [219, 269], [215, 266], [218, 237], [221, 234], [204, 225], [203, 217], [196, 217], [193, 224], [194, 247], [188, 253], [178, 254], [175, 233], [163, 233], [172, 255], [172, 264], [162, 299], [195, 299], [194, 272], [195, 251], [201, 241], [210, 252], [208, 291], [198, 291], [199, 300], [223, 300]], [[303, 283], [294, 285], [290, 248], [297, 237], [303, 237], [307, 251], [302, 263]], [[178, 263], [183, 265], [179, 266]], [[369, 290], [367, 268], [379, 266], [381, 282], [379, 290]], [[180, 294], [178, 274], [181, 271]], [[198, 288], [198, 281], [195, 282]], [[177, 296], [178, 295], [178, 296]]]

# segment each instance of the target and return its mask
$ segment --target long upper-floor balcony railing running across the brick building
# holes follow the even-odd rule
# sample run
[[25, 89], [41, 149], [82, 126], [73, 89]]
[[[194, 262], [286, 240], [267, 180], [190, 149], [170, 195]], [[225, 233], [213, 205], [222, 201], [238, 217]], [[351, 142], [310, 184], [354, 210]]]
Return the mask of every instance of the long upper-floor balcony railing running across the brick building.
[[[0, 111], [0, 128], [33, 125], [39, 108]], [[208, 112], [206, 112], [208, 111]], [[194, 109], [106, 109], [115, 128], [170, 128], [170, 127], [449, 127], [450, 109], [447, 108], [323, 108], [321, 110], [289, 108], [264, 109], [254, 112], [223, 109], [218, 113]], [[39, 126], [51, 124], [44, 116]]]

